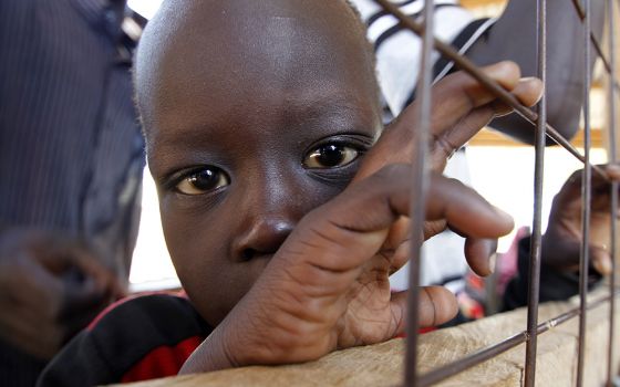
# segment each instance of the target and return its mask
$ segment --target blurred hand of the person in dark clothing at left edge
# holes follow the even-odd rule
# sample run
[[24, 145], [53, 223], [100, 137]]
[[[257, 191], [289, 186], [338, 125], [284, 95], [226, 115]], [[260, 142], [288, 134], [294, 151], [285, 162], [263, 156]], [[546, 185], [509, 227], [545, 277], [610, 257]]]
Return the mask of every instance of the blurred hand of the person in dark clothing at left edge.
[[117, 279], [84, 245], [59, 233], [2, 230], [0, 338], [51, 358], [111, 300]]

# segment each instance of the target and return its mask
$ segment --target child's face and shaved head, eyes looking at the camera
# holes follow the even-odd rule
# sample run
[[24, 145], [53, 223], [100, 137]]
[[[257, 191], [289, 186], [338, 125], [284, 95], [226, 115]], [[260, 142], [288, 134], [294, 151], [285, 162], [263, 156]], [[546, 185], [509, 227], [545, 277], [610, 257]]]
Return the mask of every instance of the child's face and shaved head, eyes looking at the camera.
[[215, 325], [353, 177], [381, 129], [376, 85], [344, 2], [165, 7], [138, 53], [138, 101], [170, 255]]

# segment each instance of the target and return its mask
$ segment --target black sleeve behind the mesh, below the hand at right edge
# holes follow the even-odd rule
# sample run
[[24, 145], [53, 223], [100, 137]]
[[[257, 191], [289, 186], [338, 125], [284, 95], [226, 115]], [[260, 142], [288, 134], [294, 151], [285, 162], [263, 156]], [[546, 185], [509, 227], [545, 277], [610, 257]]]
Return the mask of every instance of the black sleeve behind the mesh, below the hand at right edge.
[[[529, 273], [530, 237], [519, 241], [517, 275], [506, 286], [504, 293], [504, 308], [513, 310], [527, 305], [527, 286]], [[588, 287], [600, 283], [602, 276], [593, 269], [589, 270]], [[579, 294], [579, 273], [558, 271], [545, 264], [540, 265], [539, 301], [562, 301]]]

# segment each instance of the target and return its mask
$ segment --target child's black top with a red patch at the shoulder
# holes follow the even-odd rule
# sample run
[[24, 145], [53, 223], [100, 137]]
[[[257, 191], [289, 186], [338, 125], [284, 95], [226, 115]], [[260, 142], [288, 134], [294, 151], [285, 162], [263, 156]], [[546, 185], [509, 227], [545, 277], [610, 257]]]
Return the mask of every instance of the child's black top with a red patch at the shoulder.
[[186, 297], [123, 301], [97, 317], [50, 363], [38, 386], [94, 386], [178, 374], [211, 328]]

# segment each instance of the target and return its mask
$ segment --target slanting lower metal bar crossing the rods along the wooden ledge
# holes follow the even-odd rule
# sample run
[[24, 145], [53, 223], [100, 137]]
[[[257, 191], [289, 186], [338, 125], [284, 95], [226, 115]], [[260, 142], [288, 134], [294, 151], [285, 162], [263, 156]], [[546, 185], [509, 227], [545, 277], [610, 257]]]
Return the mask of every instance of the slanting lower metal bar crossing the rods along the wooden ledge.
[[[618, 292], [614, 292], [618, 293]], [[590, 302], [588, 304], [588, 310], [592, 310], [597, 306], [602, 305], [606, 302], [609, 302], [610, 300], [610, 295], [606, 295], [603, 297], [600, 297], [599, 300], [596, 300], [593, 302]], [[567, 311], [554, 318], [550, 318], [546, 322], [542, 322], [540, 324], [538, 324], [536, 334], [540, 335], [547, 331], [550, 331], [551, 328], [561, 325], [564, 323], [566, 323], [567, 321], [570, 321], [571, 318], [580, 315], [581, 310], [580, 307], [575, 307], [570, 311]], [[517, 345], [524, 343], [527, 341], [527, 331], [523, 331], [516, 335], [513, 335], [508, 338], [505, 338], [504, 341], [493, 344], [486, 348], [476, 351], [469, 355], [464, 356], [463, 358], [444, 365], [440, 368], [435, 368], [424, 375], [421, 375], [418, 378], [418, 386], [421, 387], [425, 387], [425, 386], [431, 386], [435, 383], [442, 381], [444, 379], [447, 379], [451, 376], [454, 376], [458, 373], [464, 372], [465, 369], [472, 368], [474, 366], [477, 366], [478, 364], [482, 364], [495, 356], [498, 356], [503, 353], [505, 353], [506, 351], [509, 351], [514, 347], [516, 347]]]

